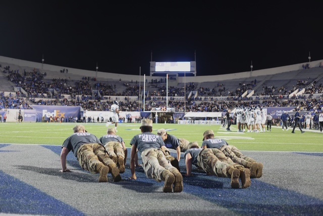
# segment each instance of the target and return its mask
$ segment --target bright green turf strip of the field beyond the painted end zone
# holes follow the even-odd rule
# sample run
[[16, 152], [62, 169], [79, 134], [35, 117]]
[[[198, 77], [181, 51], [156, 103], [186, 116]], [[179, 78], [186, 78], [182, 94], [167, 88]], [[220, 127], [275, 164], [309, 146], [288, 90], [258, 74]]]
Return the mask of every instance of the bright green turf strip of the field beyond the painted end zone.
[[[0, 124], [2, 132], [0, 143], [62, 145], [64, 140], [73, 134], [72, 128], [75, 125], [77, 123]], [[107, 127], [104, 123], [84, 125], [88, 132], [98, 138], [106, 134]], [[124, 139], [127, 147], [130, 147], [130, 140], [141, 133], [139, 127], [139, 123], [119, 124], [117, 134]], [[295, 129], [295, 134], [292, 134], [292, 128], [282, 131], [281, 127], [274, 126], [272, 131], [241, 133], [237, 132], [236, 125], [231, 126], [230, 132], [222, 125], [153, 124], [153, 133], [157, 133], [161, 128], [165, 128], [168, 134], [177, 138], [184, 138], [190, 142], [197, 141], [200, 145], [204, 131], [211, 129], [215, 137], [227, 140], [229, 144], [237, 146], [240, 150], [323, 152], [323, 133], [318, 130], [304, 130], [306, 133], [301, 134], [299, 129]]]

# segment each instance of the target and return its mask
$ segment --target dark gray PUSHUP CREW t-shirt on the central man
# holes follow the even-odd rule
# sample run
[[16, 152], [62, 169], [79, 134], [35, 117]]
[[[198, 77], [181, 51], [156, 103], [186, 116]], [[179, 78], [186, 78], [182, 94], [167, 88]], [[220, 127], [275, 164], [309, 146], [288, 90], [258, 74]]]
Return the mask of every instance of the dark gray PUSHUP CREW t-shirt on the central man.
[[160, 136], [145, 132], [134, 136], [130, 141], [130, 145], [137, 146], [138, 151], [141, 153], [147, 148], [161, 148], [165, 143]]

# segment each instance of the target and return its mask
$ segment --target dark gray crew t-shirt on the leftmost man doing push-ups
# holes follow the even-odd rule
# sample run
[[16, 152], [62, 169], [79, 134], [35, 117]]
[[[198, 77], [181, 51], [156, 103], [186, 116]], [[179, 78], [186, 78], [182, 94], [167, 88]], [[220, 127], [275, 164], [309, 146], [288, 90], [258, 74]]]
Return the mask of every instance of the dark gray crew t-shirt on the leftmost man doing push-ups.
[[64, 141], [62, 148], [66, 147], [70, 151], [73, 151], [74, 156], [77, 157], [77, 150], [79, 149], [79, 147], [88, 143], [101, 144], [100, 140], [94, 134], [90, 134], [88, 132], [74, 133]]

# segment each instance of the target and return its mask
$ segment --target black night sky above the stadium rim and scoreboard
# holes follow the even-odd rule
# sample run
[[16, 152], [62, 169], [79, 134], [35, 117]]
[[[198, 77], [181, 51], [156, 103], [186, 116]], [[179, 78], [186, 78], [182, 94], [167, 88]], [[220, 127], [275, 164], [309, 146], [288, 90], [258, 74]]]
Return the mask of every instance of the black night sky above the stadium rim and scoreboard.
[[323, 1], [282, 2], [2, 1], [0, 56], [146, 75], [151, 57], [196, 60], [197, 76], [322, 60]]

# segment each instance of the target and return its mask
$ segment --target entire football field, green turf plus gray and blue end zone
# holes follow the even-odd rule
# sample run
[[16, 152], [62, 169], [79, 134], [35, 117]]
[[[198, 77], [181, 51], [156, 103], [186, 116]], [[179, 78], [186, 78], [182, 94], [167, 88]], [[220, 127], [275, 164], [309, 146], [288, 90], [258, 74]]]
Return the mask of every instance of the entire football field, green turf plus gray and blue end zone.
[[[130, 180], [129, 159], [122, 181], [98, 183], [98, 174], [82, 170], [67, 157], [70, 173], [61, 169], [61, 145], [74, 123], [0, 123], [0, 215], [323, 215], [323, 134], [299, 129], [295, 134], [272, 127], [271, 132], [238, 133], [222, 126], [154, 124], [169, 134], [202, 143], [212, 129], [245, 155], [263, 163], [263, 175], [246, 189], [232, 189], [231, 179], [207, 176], [193, 168], [181, 193], [163, 193], [163, 182], [148, 179], [136, 168]], [[100, 137], [105, 124], [85, 124]], [[113, 126], [110, 126], [113, 127]], [[140, 124], [119, 124], [118, 135], [129, 142]], [[171, 151], [175, 156], [175, 151]], [[141, 159], [139, 158], [139, 163]], [[180, 160], [184, 175], [185, 163]]]

